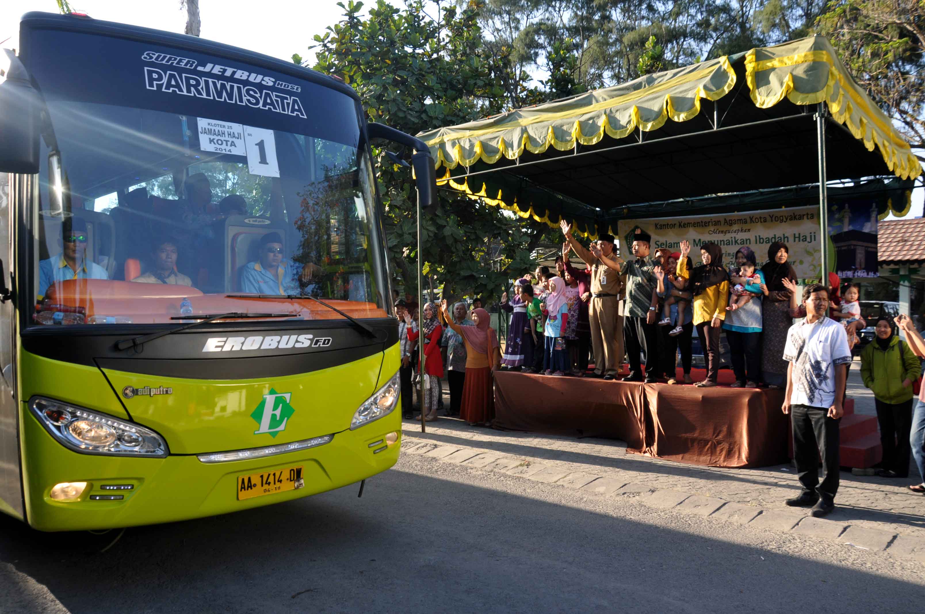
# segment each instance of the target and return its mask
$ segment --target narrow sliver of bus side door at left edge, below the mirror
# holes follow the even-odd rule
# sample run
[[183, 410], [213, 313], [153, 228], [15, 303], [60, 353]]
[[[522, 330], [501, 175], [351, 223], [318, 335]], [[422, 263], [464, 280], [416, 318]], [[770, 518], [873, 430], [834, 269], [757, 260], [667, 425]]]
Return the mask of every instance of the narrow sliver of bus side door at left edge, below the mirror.
[[[0, 261], [6, 287], [13, 266], [13, 232], [16, 220], [10, 178], [0, 173]], [[14, 301], [0, 302], [0, 507], [22, 517], [22, 486], [19, 480], [19, 419], [16, 400], [16, 328]]]

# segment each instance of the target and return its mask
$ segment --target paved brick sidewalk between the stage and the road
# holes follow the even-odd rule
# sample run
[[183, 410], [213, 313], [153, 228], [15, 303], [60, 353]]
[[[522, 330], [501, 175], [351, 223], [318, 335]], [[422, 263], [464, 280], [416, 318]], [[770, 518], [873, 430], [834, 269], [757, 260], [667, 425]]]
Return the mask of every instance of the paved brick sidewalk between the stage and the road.
[[403, 429], [403, 453], [425, 454], [604, 496], [628, 494], [652, 507], [837, 538], [925, 562], [925, 497], [907, 492], [909, 480], [843, 472], [836, 510], [829, 519], [819, 520], [808, 517], [808, 510], [783, 505], [785, 498], [799, 492], [790, 465], [700, 467], [634, 454], [616, 440], [495, 431], [443, 417], [428, 423], [426, 434], [412, 420], [404, 421]]

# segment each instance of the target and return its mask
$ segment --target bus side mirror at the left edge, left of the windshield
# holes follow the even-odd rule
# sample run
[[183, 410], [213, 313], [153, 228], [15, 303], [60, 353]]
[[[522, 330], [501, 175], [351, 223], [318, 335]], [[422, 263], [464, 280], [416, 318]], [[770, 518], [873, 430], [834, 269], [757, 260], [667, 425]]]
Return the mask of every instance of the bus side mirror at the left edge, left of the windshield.
[[0, 173], [33, 175], [39, 172], [39, 95], [19, 57], [0, 52]]

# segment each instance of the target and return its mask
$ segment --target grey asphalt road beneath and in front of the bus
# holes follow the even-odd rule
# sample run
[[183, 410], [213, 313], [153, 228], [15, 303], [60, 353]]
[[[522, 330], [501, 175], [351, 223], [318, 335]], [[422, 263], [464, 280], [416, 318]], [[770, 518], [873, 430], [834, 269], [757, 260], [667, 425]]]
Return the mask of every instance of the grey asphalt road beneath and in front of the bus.
[[130, 529], [0, 521], [0, 612], [919, 611], [914, 561], [403, 455], [366, 485]]

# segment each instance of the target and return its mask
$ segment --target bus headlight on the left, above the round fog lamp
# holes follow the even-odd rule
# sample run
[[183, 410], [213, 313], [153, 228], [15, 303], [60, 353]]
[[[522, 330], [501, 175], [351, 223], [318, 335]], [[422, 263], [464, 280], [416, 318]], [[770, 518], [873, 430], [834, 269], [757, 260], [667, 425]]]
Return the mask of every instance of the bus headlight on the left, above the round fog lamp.
[[42, 397], [32, 399], [29, 407], [45, 430], [77, 452], [149, 458], [167, 455], [164, 438], [140, 424]]

